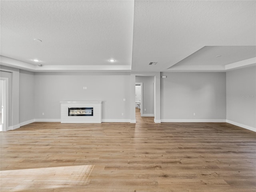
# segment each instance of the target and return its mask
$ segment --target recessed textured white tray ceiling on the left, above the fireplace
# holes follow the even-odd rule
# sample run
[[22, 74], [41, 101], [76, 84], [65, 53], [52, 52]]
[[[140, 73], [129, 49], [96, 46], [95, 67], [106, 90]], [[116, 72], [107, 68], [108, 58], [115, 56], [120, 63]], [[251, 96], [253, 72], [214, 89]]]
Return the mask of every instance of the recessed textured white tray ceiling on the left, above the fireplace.
[[132, 1], [1, 1], [1, 55], [44, 66], [106, 66], [111, 58], [130, 66], [133, 8]]

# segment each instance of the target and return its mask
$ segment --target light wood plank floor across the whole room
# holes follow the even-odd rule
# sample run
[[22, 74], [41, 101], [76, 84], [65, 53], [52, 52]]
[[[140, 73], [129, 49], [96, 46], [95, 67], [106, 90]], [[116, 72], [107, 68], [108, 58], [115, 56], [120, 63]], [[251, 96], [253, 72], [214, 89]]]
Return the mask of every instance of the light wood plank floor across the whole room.
[[60, 124], [1, 132], [1, 192], [256, 192], [256, 133], [228, 123]]

